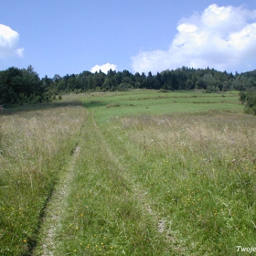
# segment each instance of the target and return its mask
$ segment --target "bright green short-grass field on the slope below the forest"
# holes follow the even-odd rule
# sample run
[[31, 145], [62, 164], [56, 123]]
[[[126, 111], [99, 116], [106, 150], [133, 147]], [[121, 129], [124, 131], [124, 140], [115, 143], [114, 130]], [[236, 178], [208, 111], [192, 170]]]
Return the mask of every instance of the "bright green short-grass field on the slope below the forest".
[[[225, 96], [225, 97], [223, 97]], [[82, 99], [87, 109], [97, 110], [97, 119], [106, 122], [115, 114], [169, 114], [179, 112], [201, 112], [206, 110], [228, 110], [242, 112], [238, 92], [157, 92], [156, 90], [135, 90], [131, 92], [95, 92]], [[108, 105], [119, 105], [107, 107]], [[107, 110], [105, 110], [107, 107]], [[104, 109], [102, 113], [99, 109]], [[99, 111], [98, 111], [99, 110]]]

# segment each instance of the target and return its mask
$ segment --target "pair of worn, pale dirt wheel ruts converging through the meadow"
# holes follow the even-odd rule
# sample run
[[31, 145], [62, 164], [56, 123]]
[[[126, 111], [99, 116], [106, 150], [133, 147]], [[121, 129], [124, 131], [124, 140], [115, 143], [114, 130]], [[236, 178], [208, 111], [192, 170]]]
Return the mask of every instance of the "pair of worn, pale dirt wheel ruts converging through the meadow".
[[[100, 127], [97, 126], [92, 112], [87, 114], [85, 124], [86, 126], [84, 126], [85, 129], [87, 129], [87, 134], [94, 137], [95, 143], [100, 144], [105, 149], [105, 157], [108, 163], [117, 167], [119, 170], [119, 176], [132, 190], [134, 201], [137, 201], [138, 205], [142, 207], [145, 215], [151, 216], [151, 219], [154, 220], [158, 232], [166, 235], [164, 220], [161, 220], [159, 218], [159, 214], [155, 213], [154, 210], [151, 209], [151, 200], [145, 191], [143, 191], [140, 184], [136, 182], [134, 183], [136, 178], [132, 176], [131, 172], [127, 171], [129, 170], [129, 163], [122, 159], [122, 154], [112, 151], [112, 145], [110, 142], [108, 142], [107, 137], [102, 134]], [[82, 127], [80, 139], [82, 139], [82, 134], [85, 134], [85, 129]], [[88, 132], [88, 129], [92, 129], [93, 131]], [[67, 171], [65, 171], [65, 174], [63, 174], [55, 186], [53, 195], [51, 196], [46, 208], [45, 218], [43, 218], [43, 225], [40, 235], [41, 242], [36, 248], [34, 255], [55, 255], [55, 248], [58, 247], [58, 230], [61, 229], [59, 226], [60, 220], [62, 219], [62, 216], [65, 215], [65, 201], [69, 196], [70, 185], [73, 182], [73, 177], [75, 174], [75, 162], [82, 157], [80, 154], [82, 154], [82, 152], [85, 150], [86, 149], [83, 149], [82, 146], [80, 148], [79, 143], [77, 144], [73, 150], [73, 155], [70, 157]], [[168, 238], [168, 235], [166, 235], [166, 238]]]

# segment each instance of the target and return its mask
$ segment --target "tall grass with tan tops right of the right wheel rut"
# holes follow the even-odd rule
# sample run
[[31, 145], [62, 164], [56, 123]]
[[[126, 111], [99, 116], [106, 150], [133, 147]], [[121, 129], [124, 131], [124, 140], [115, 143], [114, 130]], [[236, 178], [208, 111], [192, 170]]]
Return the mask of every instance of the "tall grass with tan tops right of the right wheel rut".
[[110, 143], [151, 198], [177, 255], [236, 255], [237, 246], [254, 245], [255, 117], [144, 115], [110, 124]]

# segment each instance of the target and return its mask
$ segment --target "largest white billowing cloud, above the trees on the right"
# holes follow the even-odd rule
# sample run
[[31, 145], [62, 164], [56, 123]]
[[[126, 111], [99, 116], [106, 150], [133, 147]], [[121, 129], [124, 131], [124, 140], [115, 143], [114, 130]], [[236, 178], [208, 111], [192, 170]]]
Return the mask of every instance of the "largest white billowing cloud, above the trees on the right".
[[203, 14], [181, 19], [168, 50], [132, 56], [132, 68], [154, 73], [181, 66], [246, 70], [256, 59], [255, 21], [256, 10], [212, 4]]

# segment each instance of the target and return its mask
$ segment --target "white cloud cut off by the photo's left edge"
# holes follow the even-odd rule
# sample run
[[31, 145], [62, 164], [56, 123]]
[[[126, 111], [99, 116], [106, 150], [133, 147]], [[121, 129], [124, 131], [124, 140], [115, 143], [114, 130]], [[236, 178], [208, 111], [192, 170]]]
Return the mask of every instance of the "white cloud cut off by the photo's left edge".
[[9, 56], [23, 57], [24, 48], [18, 48], [18, 32], [0, 24], [0, 58]]

